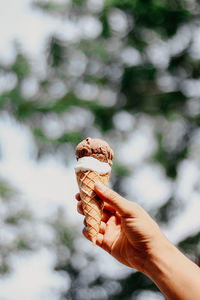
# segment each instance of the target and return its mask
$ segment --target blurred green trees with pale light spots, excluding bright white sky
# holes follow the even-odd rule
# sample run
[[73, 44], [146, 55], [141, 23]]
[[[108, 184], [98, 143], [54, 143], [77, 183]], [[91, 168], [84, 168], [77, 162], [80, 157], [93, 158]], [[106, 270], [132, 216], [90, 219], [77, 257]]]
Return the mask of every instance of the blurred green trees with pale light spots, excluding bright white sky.
[[[133, 175], [134, 164], [124, 163], [118, 145], [126, 143], [137, 124], [148, 120], [156, 150], [144, 163], [160, 164], [176, 185], [178, 167], [191, 157], [191, 144], [199, 136], [200, 56], [195, 44], [199, 1], [34, 1], [33, 8], [65, 18], [71, 28], [78, 29], [72, 35], [64, 27], [63, 35], [49, 37], [42, 75], [19, 47], [15, 61], [1, 65], [2, 72], [17, 80], [0, 95], [0, 109], [32, 129], [38, 158], [55, 151], [66, 161], [62, 146], [71, 149], [71, 159], [82, 138], [103, 136], [116, 149], [113, 186], [128, 196], [123, 182]], [[130, 124], [125, 126], [127, 119]], [[167, 224], [180, 213], [178, 200], [172, 191], [168, 201], [152, 214]], [[87, 295], [84, 299], [125, 300], [142, 289], [156, 290], [138, 273], [112, 281], [110, 295], [106, 277], [84, 281], [84, 271], [73, 263], [72, 253], [80, 255], [73, 248], [74, 237], [63, 224], [52, 225], [61, 234], [56, 249], [63, 246], [70, 251], [65, 260], [63, 252], [57, 252], [55, 269], [71, 278], [71, 288], [63, 299], [82, 299], [77, 287]], [[198, 233], [179, 246], [199, 261], [199, 243]], [[85, 257], [84, 268], [90, 269], [94, 257]]]

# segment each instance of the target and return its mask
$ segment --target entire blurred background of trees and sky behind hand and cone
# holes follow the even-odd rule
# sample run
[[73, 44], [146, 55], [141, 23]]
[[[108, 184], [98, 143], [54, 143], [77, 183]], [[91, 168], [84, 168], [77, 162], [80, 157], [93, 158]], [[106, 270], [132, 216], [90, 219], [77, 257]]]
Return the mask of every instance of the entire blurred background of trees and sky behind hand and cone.
[[82, 237], [74, 150], [200, 264], [200, 1], [7, 0], [0, 11], [0, 299], [160, 300]]

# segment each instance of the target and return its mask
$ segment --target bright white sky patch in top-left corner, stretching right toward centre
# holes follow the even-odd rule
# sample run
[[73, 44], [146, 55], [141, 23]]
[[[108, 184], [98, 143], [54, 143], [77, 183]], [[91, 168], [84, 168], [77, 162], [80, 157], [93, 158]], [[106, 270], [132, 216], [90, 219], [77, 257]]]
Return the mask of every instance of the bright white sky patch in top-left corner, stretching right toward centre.
[[[55, 0], [55, 2], [62, 1]], [[45, 51], [50, 33], [56, 33], [66, 41], [78, 41], [82, 36], [89, 39], [96, 38], [102, 30], [101, 23], [95, 17], [84, 16], [77, 24], [68, 19], [51, 17], [38, 9], [32, 9], [30, 3], [30, 0], [7, 0], [1, 6], [0, 60], [4, 62], [10, 62], [13, 59], [14, 40], [19, 41], [24, 51], [39, 61], [38, 58]]]

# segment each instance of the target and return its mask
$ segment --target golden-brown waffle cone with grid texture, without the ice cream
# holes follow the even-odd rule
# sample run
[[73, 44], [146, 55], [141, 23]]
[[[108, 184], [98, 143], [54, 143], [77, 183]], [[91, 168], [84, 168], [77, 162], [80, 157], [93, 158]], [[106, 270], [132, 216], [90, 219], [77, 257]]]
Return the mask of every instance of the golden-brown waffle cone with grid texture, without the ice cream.
[[88, 226], [88, 236], [95, 245], [100, 229], [103, 203], [94, 192], [94, 185], [95, 182], [101, 181], [107, 186], [110, 173], [100, 175], [94, 171], [80, 171], [76, 173], [76, 177], [80, 190], [83, 211]]

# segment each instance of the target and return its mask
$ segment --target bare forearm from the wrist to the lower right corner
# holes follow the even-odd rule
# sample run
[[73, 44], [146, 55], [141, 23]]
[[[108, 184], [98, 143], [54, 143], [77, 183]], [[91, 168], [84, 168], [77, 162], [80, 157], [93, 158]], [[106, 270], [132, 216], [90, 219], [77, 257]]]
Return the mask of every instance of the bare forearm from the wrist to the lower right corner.
[[145, 273], [168, 300], [200, 299], [200, 268], [166, 238], [155, 247]]

